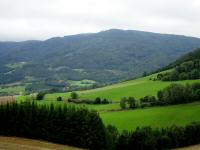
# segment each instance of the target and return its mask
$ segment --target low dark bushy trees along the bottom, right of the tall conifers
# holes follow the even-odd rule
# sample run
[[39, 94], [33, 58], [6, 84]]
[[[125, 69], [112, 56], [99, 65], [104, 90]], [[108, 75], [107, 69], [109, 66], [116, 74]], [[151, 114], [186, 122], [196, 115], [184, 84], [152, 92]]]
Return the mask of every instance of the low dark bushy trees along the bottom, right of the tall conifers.
[[117, 150], [165, 150], [200, 142], [200, 123], [191, 123], [185, 127], [171, 126], [163, 129], [151, 127], [137, 128], [135, 131], [123, 131], [121, 134], [113, 126], [107, 127], [112, 149]]

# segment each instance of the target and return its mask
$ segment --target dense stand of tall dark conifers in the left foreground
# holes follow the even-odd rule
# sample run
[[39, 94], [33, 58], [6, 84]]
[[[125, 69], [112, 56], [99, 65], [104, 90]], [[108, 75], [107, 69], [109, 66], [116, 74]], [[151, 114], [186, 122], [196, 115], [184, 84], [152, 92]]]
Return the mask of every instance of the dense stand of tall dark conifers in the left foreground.
[[95, 111], [72, 106], [15, 103], [0, 105], [0, 134], [89, 149], [104, 149], [106, 131]]

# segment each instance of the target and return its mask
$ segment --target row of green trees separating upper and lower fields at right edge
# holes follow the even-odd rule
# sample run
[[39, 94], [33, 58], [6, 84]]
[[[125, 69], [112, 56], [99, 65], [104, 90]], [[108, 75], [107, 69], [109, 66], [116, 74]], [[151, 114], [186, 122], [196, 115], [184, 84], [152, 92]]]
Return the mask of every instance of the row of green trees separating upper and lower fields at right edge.
[[200, 83], [193, 84], [171, 84], [157, 92], [157, 97], [147, 95], [139, 100], [134, 97], [122, 98], [120, 106], [122, 109], [134, 109], [138, 107], [151, 107], [162, 105], [173, 105], [200, 101]]

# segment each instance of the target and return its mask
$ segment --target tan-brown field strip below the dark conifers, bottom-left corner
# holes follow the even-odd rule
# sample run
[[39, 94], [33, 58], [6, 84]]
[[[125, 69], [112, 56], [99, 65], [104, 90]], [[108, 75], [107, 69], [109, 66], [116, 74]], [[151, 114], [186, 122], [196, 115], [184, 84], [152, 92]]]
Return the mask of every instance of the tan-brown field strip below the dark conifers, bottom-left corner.
[[1, 150], [81, 150], [79, 148], [45, 141], [0, 136]]

